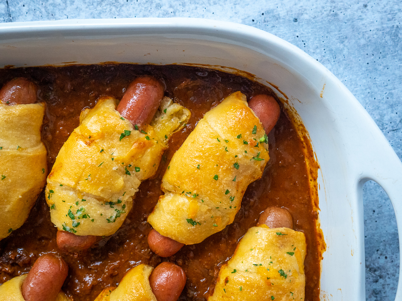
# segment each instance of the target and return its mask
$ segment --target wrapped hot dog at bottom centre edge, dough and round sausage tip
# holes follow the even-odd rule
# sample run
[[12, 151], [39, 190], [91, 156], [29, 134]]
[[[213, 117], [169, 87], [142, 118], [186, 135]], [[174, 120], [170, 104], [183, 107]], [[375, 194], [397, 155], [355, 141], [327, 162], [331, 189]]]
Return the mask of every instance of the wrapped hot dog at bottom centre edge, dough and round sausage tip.
[[162, 262], [155, 269], [139, 264], [129, 270], [119, 286], [104, 289], [95, 301], [176, 301], [186, 284], [183, 269]]

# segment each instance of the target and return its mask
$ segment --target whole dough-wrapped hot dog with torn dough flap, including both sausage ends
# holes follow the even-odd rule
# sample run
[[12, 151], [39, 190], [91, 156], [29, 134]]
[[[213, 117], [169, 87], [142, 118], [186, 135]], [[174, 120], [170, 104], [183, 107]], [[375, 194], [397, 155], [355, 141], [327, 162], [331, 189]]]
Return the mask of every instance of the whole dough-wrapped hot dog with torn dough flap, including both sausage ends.
[[[51, 217], [59, 228], [57, 245], [64, 252], [86, 250], [101, 236], [113, 234], [131, 209], [139, 182], [158, 169], [169, 137], [182, 128], [190, 116], [189, 110], [163, 96], [164, 88], [157, 79], [142, 76], [130, 83], [117, 106], [116, 100], [105, 97], [98, 100], [95, 108], [82, 112], [80, 126], [60, 150], [47, 179], [47, 201], [51, 208], [54, 204]], [[88, 155], [92, 156], [90, 160], [84, 160]], [[97, 163], [91, 165], [88, 161]], [[82, 169], [76, 177], [87, 174], [78, 183], [69, 179], [69, 170], [76, 169]], [[67, 196], [70, 205], [63, 208], [68, 202], [62, 195], [70, 193], [65, 187], [74, 189], [77, 194]], [[95, 195], [96, 198], [88, 200]], [[60, 211], [56, 213], [57, 209]], [[74, 223], [69, 224], [72, 220]]]

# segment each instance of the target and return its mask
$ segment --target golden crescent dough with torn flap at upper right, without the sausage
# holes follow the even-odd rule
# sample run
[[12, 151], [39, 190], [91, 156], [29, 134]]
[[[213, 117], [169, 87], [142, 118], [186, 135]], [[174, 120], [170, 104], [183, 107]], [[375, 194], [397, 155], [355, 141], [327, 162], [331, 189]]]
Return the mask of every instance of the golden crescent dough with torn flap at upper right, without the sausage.
[[[136, 130], [101, 98], [81, 113], [47, 177], [51, 221], [76, 235], [107, 236], [123, 224], [141, 181], [152, 177], [173, 132], [190, 111], [165, 97], [151, 125]], [[137, 128], [138, 129], [138, 128]]]

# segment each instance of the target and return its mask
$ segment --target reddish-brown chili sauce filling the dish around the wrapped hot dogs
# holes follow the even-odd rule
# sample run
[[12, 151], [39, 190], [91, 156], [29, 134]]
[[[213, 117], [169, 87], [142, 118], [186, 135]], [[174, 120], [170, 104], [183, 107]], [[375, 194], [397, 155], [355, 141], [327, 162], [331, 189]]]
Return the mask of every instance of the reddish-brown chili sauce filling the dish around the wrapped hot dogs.
[[[240, 90], [248, 99], [260, 93], [272, 94], [269, 88], [238, 75], [179, 65], [1, 69], [0, 86], [16, 76], [37, 83], [38, 98], [47, 104], [42, 138], [48, 151], [50, 171], [59, 149], [78, 126], [82, 109], [93, 107], [101, 95], [120, 99], [127, 84], [143, 74], [161, 79], [166, 85], [165, 95], [189, 108], [192, 115], [185, 128], [170, 140], [155, 177], [139, 186], [135, 205], [123, 226], [85, 253], [62, 254], [55, 242], [57, 229], [50, 221], [49, 207], [42, 193], [27, 222], [0, 242], [0, 283], [27, 273], [39, 255], [53, 252], [60, 254], [69, 266], [64, 292], [75, 301], [92, 301], [104, 288], [119, 283], [133, 266], [158, 265], [162, 258], [148, 248], [150, 225], [146, 220], [162, 194], [161, 179], [172, 155], [205, 112], [230, 93]], [[313, 153], [305, 151], [303, 139], [284, 112], [268, 136], [271, 159], [262, 179], [249, 185], [234, 222], [202, 243], [185, 246], [174, 256], [163, 259], [183, 267], [187, 274], [180, 300], [206, 300], [211, 295], [220, 266], [229, 260], [238, 240], [248, 228], [255, 226], [260, 212], [268, 205], [289, 209], [295, 230], [306, 234], [305, 299], [319, 300], [323, 239], [317, 230], [316, 191], [312, 193], [309, 186], [310, 171], [306, 165], [306, 161], [314, 161]]]

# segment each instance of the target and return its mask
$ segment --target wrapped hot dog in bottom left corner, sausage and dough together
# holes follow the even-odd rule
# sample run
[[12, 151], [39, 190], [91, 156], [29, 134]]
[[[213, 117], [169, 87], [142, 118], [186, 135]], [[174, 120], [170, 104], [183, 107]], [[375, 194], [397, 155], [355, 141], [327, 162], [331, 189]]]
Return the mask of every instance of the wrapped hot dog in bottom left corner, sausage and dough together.
[[68, 266], [53, 254], [39, 257], [28, 274], [14, 277], [0, 286], [0, 301], [69, 301], [60, 291]]

